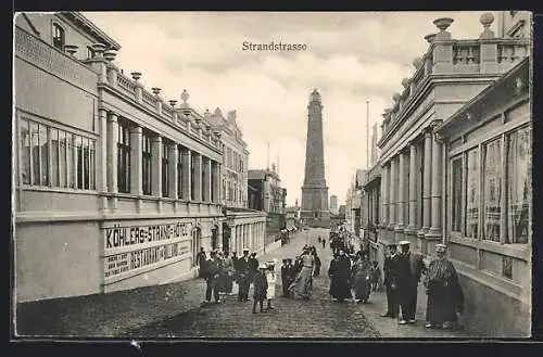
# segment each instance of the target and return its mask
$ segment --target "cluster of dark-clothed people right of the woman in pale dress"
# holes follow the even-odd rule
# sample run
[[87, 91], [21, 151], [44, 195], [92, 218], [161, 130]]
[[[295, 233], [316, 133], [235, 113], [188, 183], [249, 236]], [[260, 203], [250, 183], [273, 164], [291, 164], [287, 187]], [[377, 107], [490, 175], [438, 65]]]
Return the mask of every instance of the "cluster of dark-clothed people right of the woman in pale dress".
[[343, 248], [339, 248], [330, 262], [328, 276], [329, 294], [337, 302], [354, 299], [355, 303], [366, 304], [371, 291], [381, 285], [381, 269], [376, 260], [369, 260], [365, 251], [346, 254]]

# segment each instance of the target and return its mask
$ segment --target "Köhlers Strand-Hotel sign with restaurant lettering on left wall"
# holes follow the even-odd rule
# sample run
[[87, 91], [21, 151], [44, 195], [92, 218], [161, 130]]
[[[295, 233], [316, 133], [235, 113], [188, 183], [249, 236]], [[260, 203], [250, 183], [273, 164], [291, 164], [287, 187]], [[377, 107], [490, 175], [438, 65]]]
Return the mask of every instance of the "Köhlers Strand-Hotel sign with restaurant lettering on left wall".
[[[191, 255], [191, 224], [166, 224], [104, 229], [105, 283], [131, 277], [165, 262], [182, 260]], [[130, 273], [134, 271], [135, 273]]]

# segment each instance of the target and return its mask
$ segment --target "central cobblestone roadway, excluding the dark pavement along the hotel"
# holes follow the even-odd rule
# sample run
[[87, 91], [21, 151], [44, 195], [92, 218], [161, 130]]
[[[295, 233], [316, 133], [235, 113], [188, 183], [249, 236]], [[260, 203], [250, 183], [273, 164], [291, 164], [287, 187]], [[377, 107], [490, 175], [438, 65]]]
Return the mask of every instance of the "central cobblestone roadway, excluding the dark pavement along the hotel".
[[[318, 234], [326, 231], [316, 229], [299, 233], [298, 238], [261, 258], [261, 263], [283, 257], [294, 257], [308, 242], [317, 245]], [[326, 275], [331, 259], [330, 248], [319, 246], [323, 260], [320, 277], [314, 279], [312, 301], [280, 297], [282, 292], [278, 278], [275, 309], [263, 314], [251, 314], [252, 302], [237, 302], [229, 296], [226, 304], [202, 305], [161, 322], [128, 331], [130, 337], [453, 337], [451, 331], [428, 331], [424, 322], [417, 326], [400, 327], [396, 321], [379, 317], [384, 305], [383, 293], [375, 293], [367, 305], [331, 302], [328, 296], [329, 279]], [[279, 267], [277, 267], [279, 271]], [[252, 295], [250, 295], [252, 296]], [[424, 313], [418, 314], [424, 319]]]

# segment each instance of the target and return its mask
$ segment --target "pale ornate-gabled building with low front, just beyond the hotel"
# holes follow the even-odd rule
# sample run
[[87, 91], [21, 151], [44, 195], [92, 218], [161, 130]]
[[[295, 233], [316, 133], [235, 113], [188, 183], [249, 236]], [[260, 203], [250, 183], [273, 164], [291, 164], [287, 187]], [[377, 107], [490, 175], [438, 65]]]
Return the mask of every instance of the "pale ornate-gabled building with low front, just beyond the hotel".
[[237, 253], [249, 248], [261, 253], [265, 244], [266, 214], [249, 207], [249, 151], [236, 120], [237, 112], [229, 111], [225, 117], [217, 107], [213, 114], [205, 111], [204, 117], [219, 132], [223, 152], [220, 202], [225, 219], [222, 238], [212, 241], [211, 247]]

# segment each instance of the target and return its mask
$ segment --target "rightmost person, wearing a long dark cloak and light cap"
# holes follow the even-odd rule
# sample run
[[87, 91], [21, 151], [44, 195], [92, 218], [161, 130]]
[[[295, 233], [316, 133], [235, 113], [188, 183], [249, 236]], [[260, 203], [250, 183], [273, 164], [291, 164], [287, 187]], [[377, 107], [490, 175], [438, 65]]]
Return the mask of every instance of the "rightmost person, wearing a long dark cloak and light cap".
[[426, 328], [447, 329], [457, 322], [457, 314], [464, 314], [464, 293], [456, 269], [446, 258], [446, 245], [435, 244], [435, 255], [424, 281], [428, 294]]

